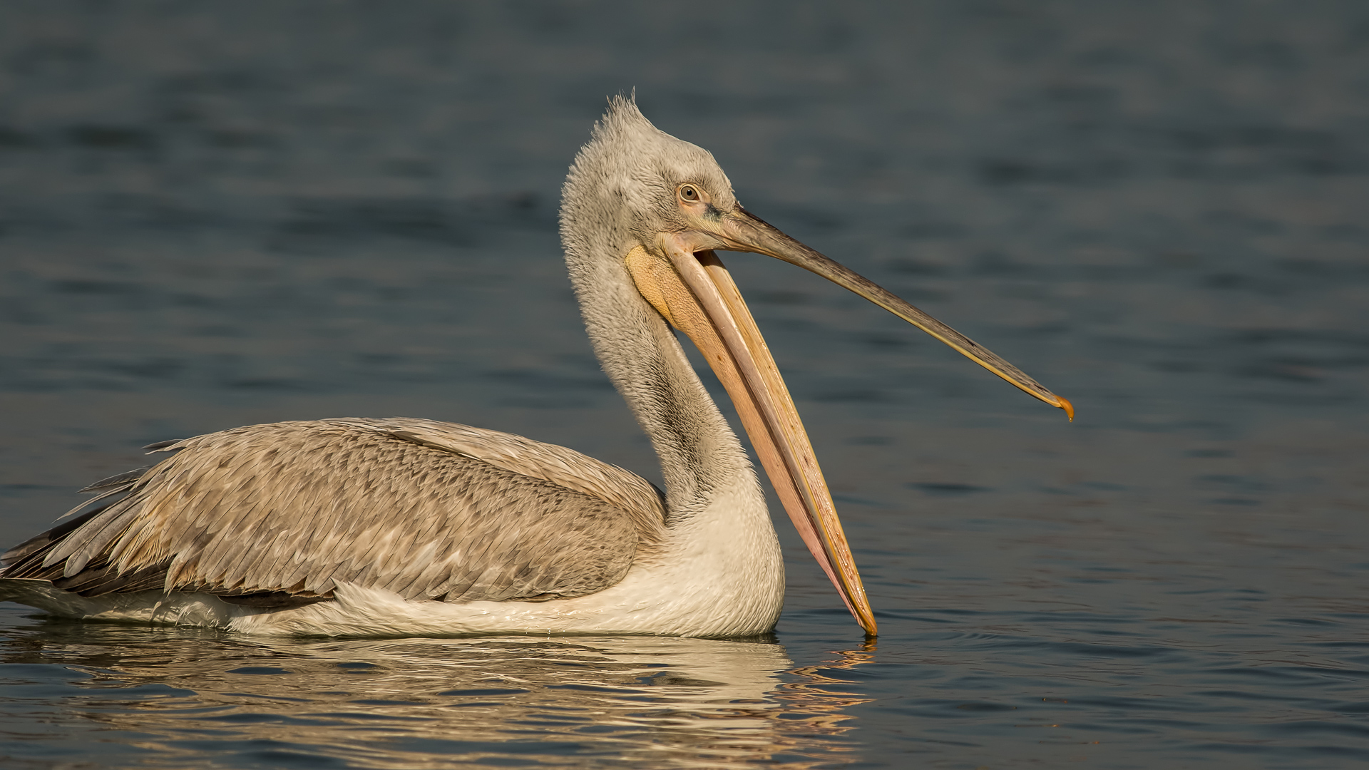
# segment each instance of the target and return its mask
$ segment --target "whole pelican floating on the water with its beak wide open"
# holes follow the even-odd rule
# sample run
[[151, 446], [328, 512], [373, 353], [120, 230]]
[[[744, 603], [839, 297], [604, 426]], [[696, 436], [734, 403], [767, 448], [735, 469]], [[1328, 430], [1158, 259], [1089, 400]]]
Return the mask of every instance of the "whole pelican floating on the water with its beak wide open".
[[[0, 599], [52, 614], [256, 634], [742, 637], [779, 618], [760, 482], [675, 330], [737, 407], [804, 543], [875, 615], [794, 403], [715, 249], [810, 270], [1027, 393], [1020, 370], [742, 208], [713, 156], [609, 101], [567, 175], [561, 241], [585, 326], [665, 490], [579, 452], [412, 418], [252, 425], [146, 447], [93, 510], [3, 556]], [[64, 517], [63, 517], [64, 518]]]

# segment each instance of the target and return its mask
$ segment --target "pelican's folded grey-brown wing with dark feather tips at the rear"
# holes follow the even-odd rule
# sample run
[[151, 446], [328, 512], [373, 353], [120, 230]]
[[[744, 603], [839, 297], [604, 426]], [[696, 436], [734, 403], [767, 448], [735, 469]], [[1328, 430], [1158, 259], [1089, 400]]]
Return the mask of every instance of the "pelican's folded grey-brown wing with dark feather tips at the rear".
[[159, 449], [172, 447], [140, 477], [93, 485], [127, 495], [11, 551], [4, 577], [264, 606], [327, 599], [340, 582], [541, 600], [616, 584], [664, 532], [660, 490], [641, 477], [463, 425], [285, 422]]

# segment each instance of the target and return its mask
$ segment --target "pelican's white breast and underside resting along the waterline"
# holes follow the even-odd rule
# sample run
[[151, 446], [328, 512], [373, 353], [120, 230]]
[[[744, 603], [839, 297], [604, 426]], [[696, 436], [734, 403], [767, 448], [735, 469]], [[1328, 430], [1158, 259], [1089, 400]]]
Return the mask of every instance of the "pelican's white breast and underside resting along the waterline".
[[[753, 486], [754, 478], [742, 485]], [[264, 610], [208, 593], [145, 591], [86, 599], [36, 580], [0, 580], [0, 599], [66, 618], [272, 636], [754, 636], [775, 628], [784, 600], [779, 543], [763, 501], [757, 517], [757, 501], [758, 489], [719, 495], [708, 510], [671, 530], [653, 563], [634, 564], [617, 585], [575, 599], [411, 601], [389, 591], [342, 584], [333, 601]]]

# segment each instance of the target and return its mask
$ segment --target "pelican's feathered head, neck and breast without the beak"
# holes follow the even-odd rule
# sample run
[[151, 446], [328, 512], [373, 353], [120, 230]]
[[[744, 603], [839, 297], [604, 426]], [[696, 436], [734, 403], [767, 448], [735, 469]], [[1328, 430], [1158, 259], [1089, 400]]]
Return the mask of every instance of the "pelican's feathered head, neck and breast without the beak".
[[[674, 170], [658, 160], [675, 163]], [[656, 130], [630, 101], [615, 100], [565, 179], [565, 263], [594, 352], [660, 458], [669, 532], [658, 566], [672, 574], [664, 582], [698, 588], [705, 615], [723, 601], [732, 611], [765, 607], [750, 615], [765, 618], [779, 611], [783, 562], [760, 481], [624, 262], [665, 226], [660, 200], [674, 201], [667, 177], [706, 178], [717, 195], [731, 195], [711, 155]]]

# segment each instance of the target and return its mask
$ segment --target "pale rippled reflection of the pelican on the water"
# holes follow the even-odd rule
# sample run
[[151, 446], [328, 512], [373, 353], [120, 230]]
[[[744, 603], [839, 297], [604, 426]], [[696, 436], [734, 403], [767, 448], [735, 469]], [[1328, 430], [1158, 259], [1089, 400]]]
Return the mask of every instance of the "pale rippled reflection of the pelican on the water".
[[[105, 728], [159, 763], [271, 751], [356, 767], [564, 765], [810, 767], [856, 760], [839, 671], [769, 641], [682, 637], [271, 640], [48, 621], [7, 662], [84, 671], [59, 719]], [[160, 685], [160, 686], [149, 686]], [[111, 708], [90, 689], [127, 689]], [[112, 730], [112, 732], [110, 732]], [[125, 733], [120, 737], [119, 733]], [[93, 747], [92, 747], [93, 749]], [[229, 760], [231, 765], [231, 760]]]

